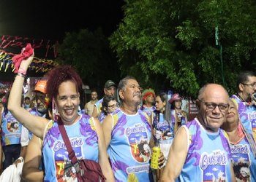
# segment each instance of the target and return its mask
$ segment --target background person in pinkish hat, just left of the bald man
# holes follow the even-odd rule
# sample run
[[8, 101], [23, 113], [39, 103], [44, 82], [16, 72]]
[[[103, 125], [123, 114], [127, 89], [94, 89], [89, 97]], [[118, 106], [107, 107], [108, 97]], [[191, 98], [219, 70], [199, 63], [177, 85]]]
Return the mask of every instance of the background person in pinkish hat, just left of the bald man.
[[184, 124], [187, 124], [187, 113], [181, 109], [182, 98], [178, 95], [178, 93], [173, 94], [172, 98], [170, 98], [169, 103], [170, 113], [172, 119], [172, 125], [174, 127], [174, 134], [177, 132], [178, 128]]

